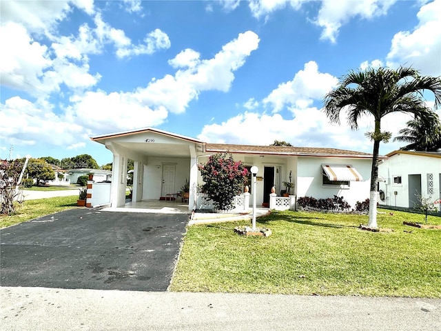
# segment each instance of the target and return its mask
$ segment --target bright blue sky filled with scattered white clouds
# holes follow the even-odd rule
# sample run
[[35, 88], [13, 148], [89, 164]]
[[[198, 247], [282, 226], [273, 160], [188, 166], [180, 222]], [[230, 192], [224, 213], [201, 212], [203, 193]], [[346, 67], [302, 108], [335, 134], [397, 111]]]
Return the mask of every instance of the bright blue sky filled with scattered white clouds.
[[[400, 65], [441, 75], [441, 0], [0, 6], [0, 159], [91, 154], [102, 165], [112, 154], [90, 137], [145, 127], [371, 152], [371, 118], [351, 131], [321, 111], [338, 78]], [[391, 114], [382, 128], [395, 137], [407, 120]]]

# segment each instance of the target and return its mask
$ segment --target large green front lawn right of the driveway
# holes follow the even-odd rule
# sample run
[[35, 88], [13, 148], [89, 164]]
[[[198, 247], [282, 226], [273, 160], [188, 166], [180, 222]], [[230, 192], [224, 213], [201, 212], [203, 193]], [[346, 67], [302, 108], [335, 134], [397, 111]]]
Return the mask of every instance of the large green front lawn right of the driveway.
[[307, 212], [258, 219], [268, 238], [234, 233], [244, 222], [189, 226], [171, 290], [441, 298], [441, 230], [386, 212], [378, 224], [392, 233], [359, 230], [367, 216]]

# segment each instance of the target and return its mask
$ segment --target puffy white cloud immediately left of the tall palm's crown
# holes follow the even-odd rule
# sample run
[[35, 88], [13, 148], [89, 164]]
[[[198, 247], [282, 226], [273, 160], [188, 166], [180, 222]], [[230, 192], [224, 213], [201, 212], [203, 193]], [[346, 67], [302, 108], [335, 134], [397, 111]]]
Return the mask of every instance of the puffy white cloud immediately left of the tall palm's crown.
[[273, 112], [280, 112], [285, 106], [307, 108], [314, 99], [321, 100], [337, 83], [336, 77], [318, 72], [317, 63], [309, 61], [292, 81], [280, 83], [262, 102], [271, 106]]

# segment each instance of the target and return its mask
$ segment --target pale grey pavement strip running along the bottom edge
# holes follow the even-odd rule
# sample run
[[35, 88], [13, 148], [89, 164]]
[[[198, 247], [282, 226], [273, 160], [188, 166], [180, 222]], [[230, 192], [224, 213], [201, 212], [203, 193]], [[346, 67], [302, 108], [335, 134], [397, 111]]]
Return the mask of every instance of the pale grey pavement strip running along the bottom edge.
[[0, 288], [1, 330], [441, 330], [441, 300]]

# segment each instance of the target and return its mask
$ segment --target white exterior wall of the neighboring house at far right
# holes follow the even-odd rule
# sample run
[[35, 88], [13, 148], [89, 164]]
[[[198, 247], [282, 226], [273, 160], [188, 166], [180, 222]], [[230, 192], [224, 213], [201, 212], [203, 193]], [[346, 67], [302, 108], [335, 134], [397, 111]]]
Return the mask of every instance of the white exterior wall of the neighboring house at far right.
[[[441, 159], [412, 154], [394, 154], [380, 164], [378, 174], [386, 181], [380, 182], [385, 201], [378, 199], [381, 205], [411, 208], [412, 201], [417, 201], [416, 192], [409, 192], [409, 175], [421, 175], [421, 195], [433, 201], [441, 198], [440, 177]], [[429, 193], [427, 174], [433, 174], [433, 194]], [[393, 177], [401, 177], [401, 184], [393, 182]], [[396, 192], [396, 194], [395, 194]]]

